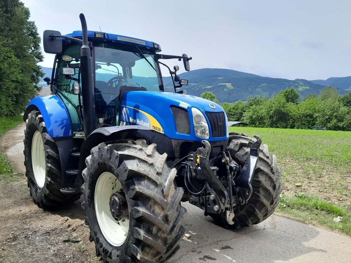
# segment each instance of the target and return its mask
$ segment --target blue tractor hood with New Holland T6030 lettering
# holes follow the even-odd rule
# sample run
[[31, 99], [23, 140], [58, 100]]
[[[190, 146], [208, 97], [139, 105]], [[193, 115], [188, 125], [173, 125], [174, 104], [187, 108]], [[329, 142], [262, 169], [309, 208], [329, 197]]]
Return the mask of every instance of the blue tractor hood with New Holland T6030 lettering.
[[[209, 104], [214, 104], [216, 109], [212, 109]], [[190, 117], [190, 134], [177, 133], [176, 123], [171, 109], [172, 106], [188, 111]], [[210, 123], [205, 112], [224, 112], [219, 104], [192, 95], [168, 92], [131, 91], [125, 93], [122, 99], [121, 121], [127, 122], [127, 124], [146, 126], [165, 134], [171, 139], [202, 141], [204, 139], [196, 136], [194, 133], [192, 124], [193, 116], [191, 112], [192, 107], [198, 108], [204, 114], [209, 127]], [[226, 129], [228, 129], [227, 126]], [[212, 137], [210, 128], [210, 138], [205, 140], [221, 141], [227, 139], [227, 136]]]

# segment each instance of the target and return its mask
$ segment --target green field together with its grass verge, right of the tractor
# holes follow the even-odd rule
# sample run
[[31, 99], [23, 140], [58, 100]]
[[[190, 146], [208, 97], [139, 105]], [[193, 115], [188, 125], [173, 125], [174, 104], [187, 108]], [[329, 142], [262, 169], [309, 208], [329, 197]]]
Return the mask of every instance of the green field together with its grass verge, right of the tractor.
[[[231, 127], [259, 135], [282, 168], [279, 213], [351, 235], [351, 132]], [[340, 222], [333, 218], [342, 216]]]

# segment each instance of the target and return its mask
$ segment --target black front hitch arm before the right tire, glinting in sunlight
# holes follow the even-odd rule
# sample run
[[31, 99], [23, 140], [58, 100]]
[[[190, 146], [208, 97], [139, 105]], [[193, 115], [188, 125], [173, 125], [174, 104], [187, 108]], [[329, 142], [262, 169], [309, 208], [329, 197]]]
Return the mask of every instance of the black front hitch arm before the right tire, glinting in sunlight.
[[261, 146], [261, 138], [257, 135], [253, 136], [256, 141], [250, 141], [247, 144], [247, 148], [250, 148], [250, 155], [247, 158], [243, 169], [240, 171], [235, 184], [235, 191], [237, 192], [237, 198], [239, 204], [245, 204], [250, 199], [252, 194], [252, 177], [256, 169], [259, 149]]

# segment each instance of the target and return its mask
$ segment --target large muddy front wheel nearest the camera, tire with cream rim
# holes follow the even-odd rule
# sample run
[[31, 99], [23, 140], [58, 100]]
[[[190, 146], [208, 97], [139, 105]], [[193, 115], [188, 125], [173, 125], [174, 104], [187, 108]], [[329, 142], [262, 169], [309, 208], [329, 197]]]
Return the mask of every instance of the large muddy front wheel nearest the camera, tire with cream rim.
[[[185, 234], [184, 191], [174, 184], [176, 169], [168, 168], [166, 159], [145, 140], [100, 143], [91, 150], [82, 173], [82, 207], [90, 241], [103, 262], [164, 262], [179, 249]], [[116, 191], [127, 202], [125, 221], [114, 219], [107, 207]]]

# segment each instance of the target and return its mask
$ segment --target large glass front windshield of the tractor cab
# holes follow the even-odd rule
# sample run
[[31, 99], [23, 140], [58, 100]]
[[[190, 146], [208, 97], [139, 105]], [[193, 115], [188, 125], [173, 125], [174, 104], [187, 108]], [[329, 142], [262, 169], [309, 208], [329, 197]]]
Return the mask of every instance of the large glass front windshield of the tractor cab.
[[119, 116], [122, 87], [163, 91], [161, 74], [154, 51], [136, 46], [99, 43], [94, 47], [95, 109], [98, 127], [115, 126]]

